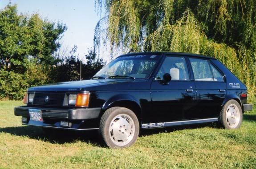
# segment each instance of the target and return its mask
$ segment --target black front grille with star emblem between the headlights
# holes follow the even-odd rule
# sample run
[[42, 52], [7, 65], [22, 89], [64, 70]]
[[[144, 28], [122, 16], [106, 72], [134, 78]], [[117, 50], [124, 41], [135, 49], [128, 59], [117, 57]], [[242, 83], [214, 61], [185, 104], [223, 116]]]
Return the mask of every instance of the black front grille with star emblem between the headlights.
[[64, 98], [65, 93], [35, 93], [33, 105], [62, 106]]

